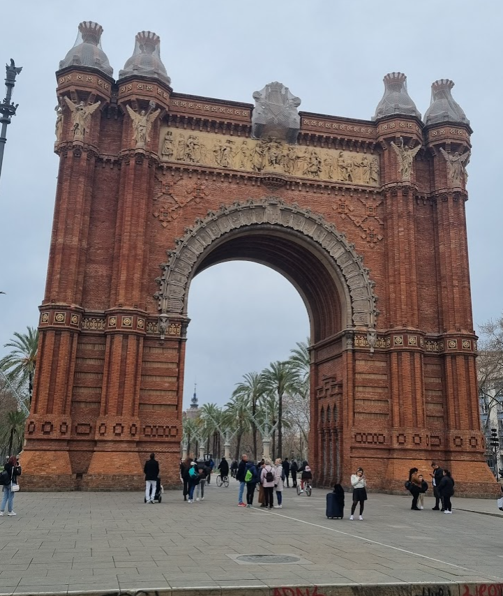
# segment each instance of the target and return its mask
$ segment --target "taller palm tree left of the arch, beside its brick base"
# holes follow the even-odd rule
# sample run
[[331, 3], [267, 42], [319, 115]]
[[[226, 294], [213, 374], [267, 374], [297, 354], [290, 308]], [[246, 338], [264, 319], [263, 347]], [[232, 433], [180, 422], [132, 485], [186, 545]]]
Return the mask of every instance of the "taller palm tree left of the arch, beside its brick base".
[[37, 360], [38, 329], [27, 327], [28, 333], [15, 333], [15, 339], [4, 344], [4, 348], [14, 348], [8, 355], [0, 359], [0, 369], [8, 380], [21, 389], [28, 384], [29, 401], [33, 393], [33, 375]]

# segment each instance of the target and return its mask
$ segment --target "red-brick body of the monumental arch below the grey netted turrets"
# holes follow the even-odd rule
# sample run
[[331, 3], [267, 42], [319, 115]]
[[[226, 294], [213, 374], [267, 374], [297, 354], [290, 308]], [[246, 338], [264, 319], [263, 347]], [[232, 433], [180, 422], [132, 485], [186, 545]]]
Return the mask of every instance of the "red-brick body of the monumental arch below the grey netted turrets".
[[[440, 154], [469, 148], [469, 126], [301, 112], [296, 165], [285, 165], [278, 144], [283, 167], [259, 167], [257, 152], [248, 163], [239, 157], [243, 140], [256, 143], [248, 103], [174, 93], [149, 77], [116, 83], [83, 66], [63, 68], [57, 83], [58, 96], [100, 106], [83, 142], [63, 106], [55, 146], [24, 488], [136, 489], [151, 451], [163, 484], [178, 484], [188, 281], [248, 258], [282, 271], [308, 308], [319, 484], [363, 465], [373, 488], [401, 490], [408, 468], [428, 472], [437, 459], [460, 492], [493, 493], [479, 425], [467, 193], [453, 187]], [[126, 105], [140, 112], [150, 101], [161, 111], [138, 148]], [[422, 147], [410, 181], [391, 150], [400, 137]]]

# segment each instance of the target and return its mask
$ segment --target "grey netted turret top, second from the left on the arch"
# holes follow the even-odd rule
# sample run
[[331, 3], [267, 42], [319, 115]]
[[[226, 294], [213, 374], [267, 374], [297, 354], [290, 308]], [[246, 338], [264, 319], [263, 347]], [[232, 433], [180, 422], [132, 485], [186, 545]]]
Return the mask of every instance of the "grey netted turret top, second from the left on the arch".
[[171, 84], [166, 68], [160, 59], [160, 37], [152, 31], [140, 31], [135, 38], [135, 51], [119, 70], [119, 79], [132, 75], [140, 77], [156, 77]]

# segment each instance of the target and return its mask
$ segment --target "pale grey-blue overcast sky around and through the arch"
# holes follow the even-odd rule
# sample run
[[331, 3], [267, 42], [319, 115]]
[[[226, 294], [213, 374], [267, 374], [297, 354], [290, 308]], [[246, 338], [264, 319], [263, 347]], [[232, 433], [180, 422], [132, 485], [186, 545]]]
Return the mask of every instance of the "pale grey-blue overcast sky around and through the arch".
[[[474, 130], [467, 202], [474, 322], [502, 312], [503, 3], [23, 0], [10, 10], [1, 24], [0, 64], [13, 57], [23, 70], [0, 179], [0, 290], [7, 292], [0, 295], [0, 356], [14, 331], [38, 322], [58, 166], [54, 71], [82, 20], [103, 26], [115, 77], [137, 31], [158, 33], [172, 87], [186, 94], [253, 103], [253, 91], [278, 80], [301, 98], [300, 110], [370, 119], [386, 73], [407, 75], [421, 114], [431, 83], [452, 79], [453, 96]], [[197, 276], [189, 315], [185, 406], [195, 379], [200, 403], [225, 403], [241, 375], [286, 358], [309, 329], [292, 285], [248, 262]]]

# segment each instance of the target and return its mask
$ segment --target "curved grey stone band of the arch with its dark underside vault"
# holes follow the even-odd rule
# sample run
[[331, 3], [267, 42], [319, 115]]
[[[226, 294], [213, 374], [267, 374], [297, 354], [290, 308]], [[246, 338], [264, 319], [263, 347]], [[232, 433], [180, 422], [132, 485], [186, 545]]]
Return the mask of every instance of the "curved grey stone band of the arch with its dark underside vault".
[[[271, 246], [263, 241], [267, 236], [273, 238]], [[246, 246], [235, 240], [243, 237]], [[230, 248], [229, 242], [233, 244]], [[187, 315], [188, 288], [197, 273], [222, 260], [248, 258], [278, 269], [292, 281], [306, 303], [312, 324], [319, 322], [313, 328], [315, 341], [341, 329], [375, 327], [374, 283], [368, 269], [363, 267], [363, 258], [333, 224], [296, 204], [286, 204], [273, 197], [234, 202], [218, 211], [209, 211], [206, 218], [186, 229], [176, 245], [174, 251], [168, 252], [168, 262], [161, 265], [163, 276], [158, 278], [160, 290], [156, 293], [159, 310], [168, 318]], [[298, 253], [295, 267], [278, 254], [280, 247]], [[312, 260], [313, 253], [319, 253], [323, 265], [317, 267], [314, 262], [314, 270], [310, 269], [310, 275], [304, 276], [300, 262]], [[325, 306], [316, 307], [316, 301]], [[328, 312], [325, 316], [317, 312], [320, 308], [331, 311], [332, 317], [336, 315], [337, 323], [329, 322]]]

